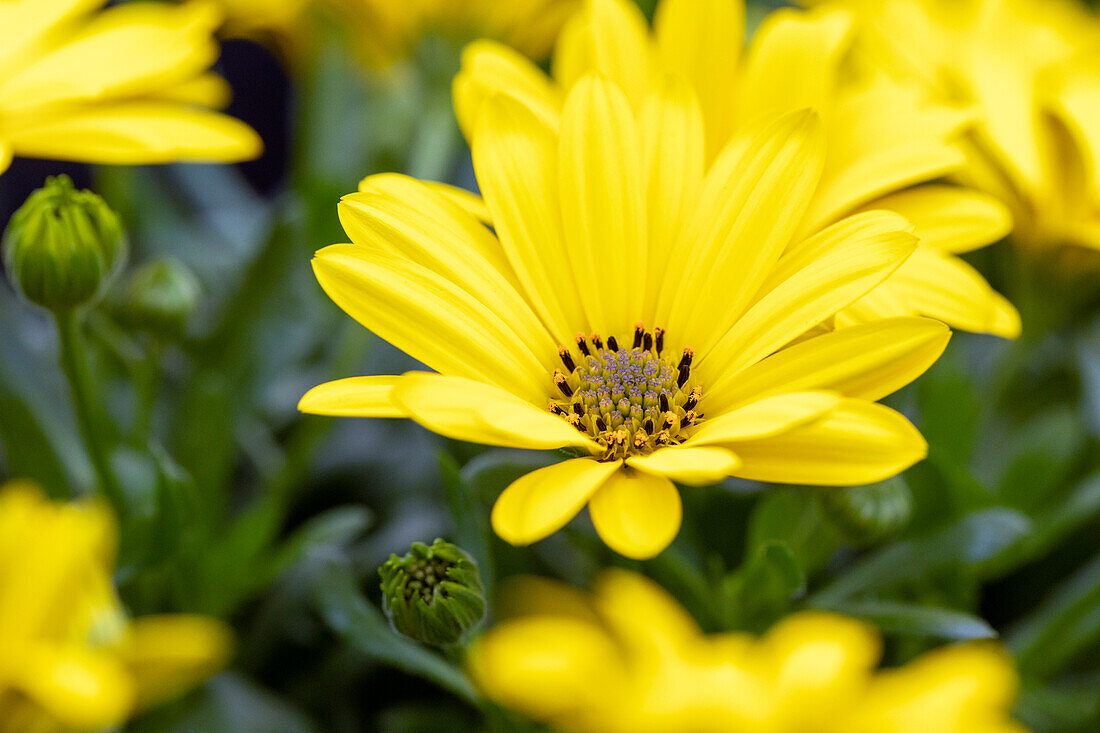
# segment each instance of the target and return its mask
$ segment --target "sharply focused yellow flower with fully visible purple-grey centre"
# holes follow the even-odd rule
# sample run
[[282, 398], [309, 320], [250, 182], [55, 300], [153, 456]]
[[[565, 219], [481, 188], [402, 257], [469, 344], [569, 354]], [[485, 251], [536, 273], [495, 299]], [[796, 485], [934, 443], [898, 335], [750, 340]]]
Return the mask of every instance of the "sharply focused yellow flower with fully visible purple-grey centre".
[[794, 342], [905, 262], [909, 222], [865, 212], [799, 240], [824, 166], [817, 118], [762, 124], [706, 171], [693, 110], [681, 88], [636, 119], [596, 76], [560, 125], [487, 102], [472, 150], [496, 236], [438, 186], [367, 178], [340, 205], [354, 243], [314, 270], [438, 373], [324, 384], [300, 408], [572, 450], [508, 486], [494, 528], [532, 543], [587, 504], [631, 557], [675, 536], [673, 481], [862, 484], [923, 458], [913, 426], [873, 401], [935, 361], [946, 327], [899, 317]]

